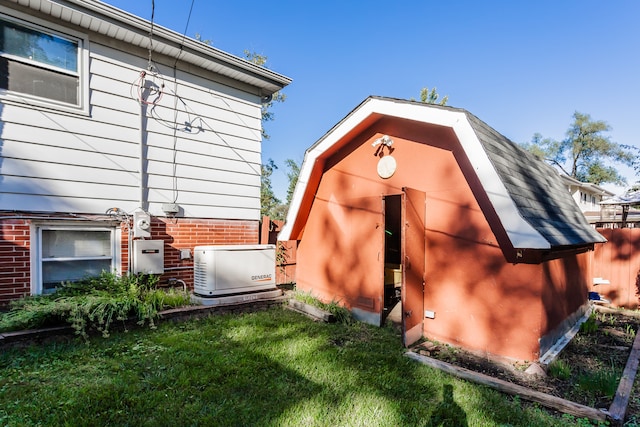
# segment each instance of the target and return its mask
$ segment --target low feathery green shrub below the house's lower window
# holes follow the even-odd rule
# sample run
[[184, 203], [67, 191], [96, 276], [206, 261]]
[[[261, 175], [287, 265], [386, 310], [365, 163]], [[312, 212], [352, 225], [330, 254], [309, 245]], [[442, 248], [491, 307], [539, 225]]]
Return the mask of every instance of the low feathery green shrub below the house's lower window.
[[189, 304], [186, 292], [157, 289], [158, 277], [102, 272], [78, 282], [63, 283], [56, 293], [21, 298], [0, 314], [0, 331], [31, 329], [66, 322], [87, 337], [90, 329], [109, 335], [114, 321], [135, 317], [154, 327], [164, 308]]

